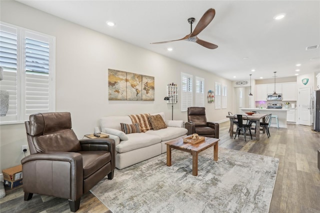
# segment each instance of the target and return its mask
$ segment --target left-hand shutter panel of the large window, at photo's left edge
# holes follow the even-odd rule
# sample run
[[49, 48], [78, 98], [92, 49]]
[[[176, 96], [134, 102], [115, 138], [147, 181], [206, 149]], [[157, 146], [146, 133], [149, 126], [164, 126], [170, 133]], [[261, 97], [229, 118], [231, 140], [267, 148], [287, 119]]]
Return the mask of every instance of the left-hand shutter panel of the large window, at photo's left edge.
[[[3, 68], [3, 79], [0, 89], [9, 94], [9, 108], [1, 121], [17, 120], [17, 30], [0, 24], [0, 66]], [[2, 92], [1, 91], [1, 92]]]

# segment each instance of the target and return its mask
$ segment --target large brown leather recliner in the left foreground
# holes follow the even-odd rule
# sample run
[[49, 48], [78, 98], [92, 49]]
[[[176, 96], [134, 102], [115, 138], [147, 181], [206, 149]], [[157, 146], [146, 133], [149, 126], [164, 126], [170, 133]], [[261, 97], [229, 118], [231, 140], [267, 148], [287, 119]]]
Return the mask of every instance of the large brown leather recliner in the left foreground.
[[69, 112], [32, 114], [25, 128], [30, 155], [21, 160], [24, 200], [33, 193], [61, 197], [74, 212], [83, 193], [106, 175], [113, 178], [114, 140], [78, 140]]

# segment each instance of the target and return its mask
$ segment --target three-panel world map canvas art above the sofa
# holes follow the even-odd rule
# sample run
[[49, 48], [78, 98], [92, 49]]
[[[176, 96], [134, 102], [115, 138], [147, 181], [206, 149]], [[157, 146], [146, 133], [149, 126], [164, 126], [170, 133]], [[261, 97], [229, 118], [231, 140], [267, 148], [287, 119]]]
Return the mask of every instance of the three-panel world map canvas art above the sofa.
[[108, 69], [109, 100], [154, 100], [154, 77]]

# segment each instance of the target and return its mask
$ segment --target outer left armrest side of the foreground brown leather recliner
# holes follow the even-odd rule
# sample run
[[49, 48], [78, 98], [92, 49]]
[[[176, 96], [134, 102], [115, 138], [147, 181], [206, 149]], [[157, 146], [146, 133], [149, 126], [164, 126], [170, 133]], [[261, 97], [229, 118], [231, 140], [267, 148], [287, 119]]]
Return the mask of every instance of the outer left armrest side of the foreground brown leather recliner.
[[48, 151], [21, 159], [23, 191], [76, 200], [83, 193], [82, 155]]

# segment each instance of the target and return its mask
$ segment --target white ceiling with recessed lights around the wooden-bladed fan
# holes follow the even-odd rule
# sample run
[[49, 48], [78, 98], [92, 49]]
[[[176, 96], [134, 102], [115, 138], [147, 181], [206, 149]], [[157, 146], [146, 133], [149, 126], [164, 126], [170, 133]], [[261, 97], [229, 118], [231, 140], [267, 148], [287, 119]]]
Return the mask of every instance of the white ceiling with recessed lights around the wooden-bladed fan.
[[[320, 71], [320, 48], [305, 50], [320, 44], [319, 0], [18, 1], [230, 80]], [[195, 18], [194, 28], [211, 7], [215, 17], [198, 37], [218, 48], [187, 41], [150, 44], [182, 38], [190, 33], [187, 18]], [[278, 13], [286, 16], [274, 20]], [[107, 26], [107, 20], [115, 26]]]

